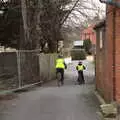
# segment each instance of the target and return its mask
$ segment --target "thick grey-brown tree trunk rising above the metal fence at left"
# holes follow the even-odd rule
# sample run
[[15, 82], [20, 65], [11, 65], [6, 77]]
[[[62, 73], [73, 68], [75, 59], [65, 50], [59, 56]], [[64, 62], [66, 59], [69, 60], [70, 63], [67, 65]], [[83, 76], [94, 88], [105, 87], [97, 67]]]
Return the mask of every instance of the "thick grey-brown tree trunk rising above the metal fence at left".
[[41, 40], [41, 0], [21, 0], [21, 8], [25, 33], [24, 48], [39, 48]]

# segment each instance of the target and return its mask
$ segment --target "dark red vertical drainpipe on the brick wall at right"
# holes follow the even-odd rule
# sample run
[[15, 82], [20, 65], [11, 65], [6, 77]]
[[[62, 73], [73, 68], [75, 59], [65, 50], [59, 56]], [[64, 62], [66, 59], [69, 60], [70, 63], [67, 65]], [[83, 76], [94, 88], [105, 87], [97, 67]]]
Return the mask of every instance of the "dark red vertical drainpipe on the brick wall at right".
[[116, 100], [116, 8], [113, 8], [113, 101]]

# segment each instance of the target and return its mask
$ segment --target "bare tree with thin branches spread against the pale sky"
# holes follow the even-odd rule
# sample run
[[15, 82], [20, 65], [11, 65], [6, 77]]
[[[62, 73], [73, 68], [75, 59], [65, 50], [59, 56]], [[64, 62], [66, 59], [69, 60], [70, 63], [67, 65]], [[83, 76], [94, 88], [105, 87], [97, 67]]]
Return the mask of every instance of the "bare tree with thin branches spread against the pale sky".
[[[71, 2], [69, 5], [70, 9], [75, 2], [75, 0]], [[87, 25], [95, 24], [103, 18], [105, 18], [105, 6], [102, 6], [99, 1], [78, 1], [63, 24], [62, 33], [65, 38], [65, 47], [71, 46], [74, 40], [80, 39], [80, 31], [87, 27]]]

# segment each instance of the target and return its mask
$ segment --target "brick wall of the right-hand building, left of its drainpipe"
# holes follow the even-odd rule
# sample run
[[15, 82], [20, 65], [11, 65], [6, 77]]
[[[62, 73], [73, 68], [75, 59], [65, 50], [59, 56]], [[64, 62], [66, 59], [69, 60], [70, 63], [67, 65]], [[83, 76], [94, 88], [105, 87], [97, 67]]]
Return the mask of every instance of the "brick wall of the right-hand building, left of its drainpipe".
[[108, 8], [106, 18], [106, 37], [100, 49], [97, 40], [96, 86], [97, 90], [110, 102], [113, 99], [113, 12]]

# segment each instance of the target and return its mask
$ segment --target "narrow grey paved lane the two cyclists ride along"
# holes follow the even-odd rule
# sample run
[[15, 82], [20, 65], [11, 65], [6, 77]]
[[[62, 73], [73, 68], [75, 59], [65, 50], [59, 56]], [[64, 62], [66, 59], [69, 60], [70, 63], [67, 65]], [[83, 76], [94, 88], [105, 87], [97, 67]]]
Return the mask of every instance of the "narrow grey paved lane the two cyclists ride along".
[[98, 120], [93, 65], [84, 63], [87, 66], [85, 85], [75, 85], [77, 62], [73, 62], [66, 71], [64, 86], [56, 87], [54, 81], [20, 94], [18, 99], [8, 101], [9, 107], [0, 114], [1, 120]]

